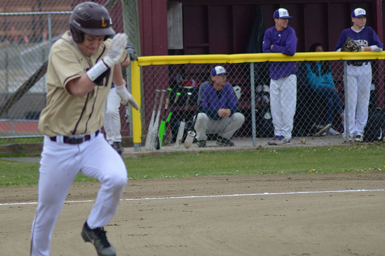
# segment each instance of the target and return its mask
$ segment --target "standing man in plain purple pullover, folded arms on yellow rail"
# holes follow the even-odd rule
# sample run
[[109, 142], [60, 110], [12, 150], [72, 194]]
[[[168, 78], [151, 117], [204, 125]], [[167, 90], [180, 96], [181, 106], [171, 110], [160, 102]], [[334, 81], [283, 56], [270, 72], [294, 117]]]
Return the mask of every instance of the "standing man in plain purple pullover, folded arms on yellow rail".
[[[297, 37], [288, 26], [288, 10], [279, 8], [273, 15], [275, 26], [265, 31], [262, 50], [264, 53], [295, 54]], [[290, 144], [297, 100], [297, 67], [295, 62], [270, 63], [270, 108], [274, 124], [274, 137], [269, 145]]]

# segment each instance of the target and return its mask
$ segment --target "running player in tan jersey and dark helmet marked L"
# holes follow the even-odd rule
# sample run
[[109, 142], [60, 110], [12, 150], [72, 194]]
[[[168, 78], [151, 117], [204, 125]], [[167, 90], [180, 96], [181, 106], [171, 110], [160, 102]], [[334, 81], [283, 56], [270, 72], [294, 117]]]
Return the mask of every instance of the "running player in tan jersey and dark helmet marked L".
[[105, 226], [114, 216], [127, 183], [120, 155], [100, 132], [104, 104], [111, 83], [123, 104], [138, 105], [127, 92], [120, 63], [127, 58], [127, 35], [115, 34], [109, 13], [101, 5], [84, 2], [70, 17], [70, 31], [49, 53], [47, 106], [39, 120], [44, 134], [40, 160], [38, 206], [31, 231], [31, 255], [49, 255], [56, 220], [69, 187], [81, 172], [101, 182], [95, 205], [81, 236], [98, 255], [116, 255]]

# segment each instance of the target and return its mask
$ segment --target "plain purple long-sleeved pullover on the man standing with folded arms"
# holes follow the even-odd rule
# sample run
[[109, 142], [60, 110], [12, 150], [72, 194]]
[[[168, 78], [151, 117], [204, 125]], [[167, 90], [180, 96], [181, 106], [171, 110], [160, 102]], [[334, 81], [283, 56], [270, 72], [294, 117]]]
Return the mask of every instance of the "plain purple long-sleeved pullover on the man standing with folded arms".
[[[283, 53], [289, 56], [295, 54], [297, 48], [295, 31], [287, 26], [283, 31], [277, 31], [275, 26], [267, 29], [263, 37], [262, 51], [264, 53]], [[273, 50], [270, 46], [273, 46]], [[279, 79], [297, 72], [294, 61], [270, 62], [270, 78]]]

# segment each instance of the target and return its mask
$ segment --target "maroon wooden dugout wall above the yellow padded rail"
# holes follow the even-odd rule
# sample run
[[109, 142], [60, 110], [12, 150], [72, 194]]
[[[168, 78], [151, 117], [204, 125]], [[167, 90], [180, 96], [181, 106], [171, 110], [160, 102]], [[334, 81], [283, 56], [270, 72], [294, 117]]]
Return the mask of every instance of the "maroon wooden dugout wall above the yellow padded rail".
[[[333, 51], [341, 31], [352, 25], [350, 14], [357, 7], [367, 11], [367, 26], [372, 26], [383, 38], [385, 6], [380, 0], [169, 2], [182, 2], [183, 7], [184, 49], [174, 54], [244, 53], [258, 4], [266, 28], [274, 25], [272, 16], [277, 8], [288, 9], [294, 17], [289, 25], [296, 31], [298, 52], [308, 51], [316, 41]], [[167, 0], [138, 0], [138, 3], [142, 55], [167, 55]]]

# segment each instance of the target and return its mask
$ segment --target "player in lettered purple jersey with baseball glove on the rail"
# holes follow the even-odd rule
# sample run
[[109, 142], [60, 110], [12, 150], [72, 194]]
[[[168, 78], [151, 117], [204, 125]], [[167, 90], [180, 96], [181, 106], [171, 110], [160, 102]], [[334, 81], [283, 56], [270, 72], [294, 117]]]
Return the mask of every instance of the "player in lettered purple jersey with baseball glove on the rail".
[[[382, 51], [383, 45], [376, 32], [371, 27], [365, 26], [367, 17], [368, 15], [364, 9], [356, 8], [353, 10], [353, 26], [342, 31], [340, 38], [338, 38], [336, 51], [341, 51], [341, 47], [348, 37], [361, 45], [360, 51]], [[347, 65], [348, 93], [346, 100], [348, 101], [349, 140], [354, 139], [357, 142], [362, 142], [363, 131], [368, 120], [372, 66], [370, 60], [349, 60]], [[346, 142], [346, 127], [343, 137]]]

